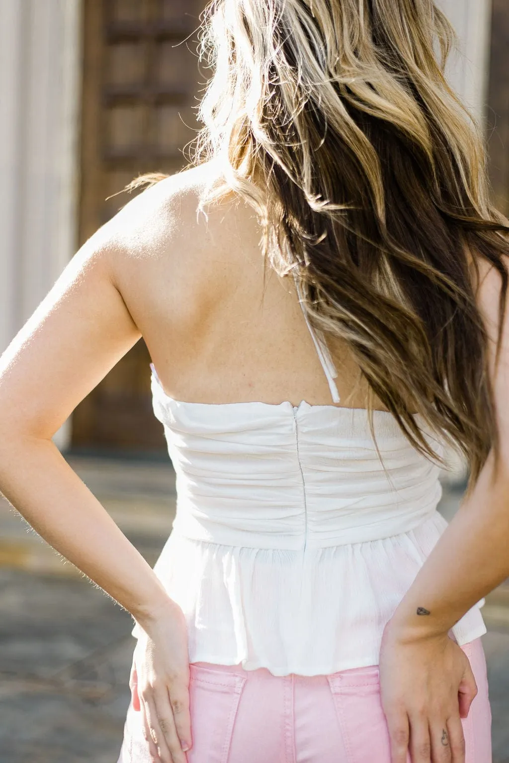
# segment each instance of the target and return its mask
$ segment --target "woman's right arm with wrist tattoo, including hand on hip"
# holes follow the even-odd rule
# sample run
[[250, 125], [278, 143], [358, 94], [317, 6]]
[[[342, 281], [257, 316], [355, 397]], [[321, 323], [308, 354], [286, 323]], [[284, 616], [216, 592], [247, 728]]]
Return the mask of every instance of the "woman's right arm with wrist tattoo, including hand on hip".
[[379, 670], [392, 763], [405, 763], [408, 749], [412, 763], [465, 763], [461, 719], [477, 687], [466, 655], [448, 632], [509, 575], [509, 310], [495, 371], [499, 293], [498, 273], [485, 272], [479, 307], [490, 337], [500, 464], [495, 474], [490, 453], [472, 494], [384, 630]]

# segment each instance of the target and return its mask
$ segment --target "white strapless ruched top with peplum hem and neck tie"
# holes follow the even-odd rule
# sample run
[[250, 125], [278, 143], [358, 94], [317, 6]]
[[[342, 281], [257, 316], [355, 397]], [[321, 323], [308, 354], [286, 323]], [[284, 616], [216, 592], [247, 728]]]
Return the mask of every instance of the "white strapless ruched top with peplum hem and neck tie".
[[[324, 337], [304, 315], [339, 402]], [[439, 465], [386, 411], [373, 414], [384, 472], [363, 408], [182, 402], [151, 368], [177, 478], [154, 569], [184, 610], [190, 662], [274, 675], [378, 664], [386, 622], [447, 527]], [[483, 604], [453, 626], [460, 645], [486, 633]]]

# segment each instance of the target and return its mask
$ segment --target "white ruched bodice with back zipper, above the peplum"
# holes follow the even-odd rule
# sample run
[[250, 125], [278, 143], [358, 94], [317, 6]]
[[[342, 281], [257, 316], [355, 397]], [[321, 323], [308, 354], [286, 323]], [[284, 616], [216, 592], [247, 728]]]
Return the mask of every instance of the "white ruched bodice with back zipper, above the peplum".
[[405, 532], [434, 512], [438, 467], [377, 411], [334, 406], [179, 403], [154, 384], [177, 475], [174, 530], [260, 549], [307, 549]]

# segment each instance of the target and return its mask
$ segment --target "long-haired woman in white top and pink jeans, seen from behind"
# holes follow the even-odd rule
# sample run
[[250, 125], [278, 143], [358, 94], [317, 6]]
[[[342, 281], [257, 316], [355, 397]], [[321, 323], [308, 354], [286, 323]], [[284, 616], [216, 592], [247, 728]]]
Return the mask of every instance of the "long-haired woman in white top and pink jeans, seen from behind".
[[[450, 25], [218, 0], [204, 28], [197, 166], [101, 227], [2, 356], [0, 488], [133, 615], [123, 763], [488, 763], [509, 227]], [[51, 439], [140, 336], [178, 486], [155, 571]]]

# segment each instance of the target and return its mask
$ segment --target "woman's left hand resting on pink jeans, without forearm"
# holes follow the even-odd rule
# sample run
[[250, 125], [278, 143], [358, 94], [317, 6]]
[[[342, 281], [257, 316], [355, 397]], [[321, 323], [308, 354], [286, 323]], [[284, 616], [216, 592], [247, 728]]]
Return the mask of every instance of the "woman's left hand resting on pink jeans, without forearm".
[[[139, 624], [139, 623], [138, 623]], [[130, 687], [155, 763], [186, 763], [191, 747], [189, 655], [184, 613], [171, 602], [140, 626]]]

